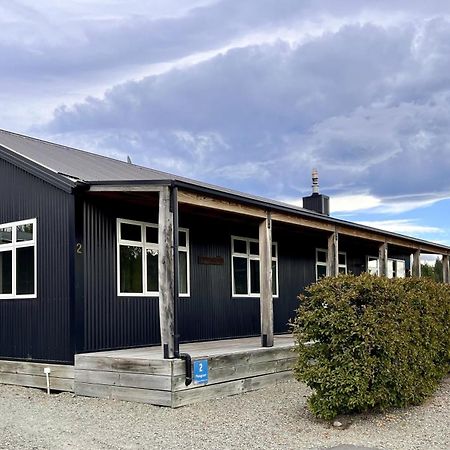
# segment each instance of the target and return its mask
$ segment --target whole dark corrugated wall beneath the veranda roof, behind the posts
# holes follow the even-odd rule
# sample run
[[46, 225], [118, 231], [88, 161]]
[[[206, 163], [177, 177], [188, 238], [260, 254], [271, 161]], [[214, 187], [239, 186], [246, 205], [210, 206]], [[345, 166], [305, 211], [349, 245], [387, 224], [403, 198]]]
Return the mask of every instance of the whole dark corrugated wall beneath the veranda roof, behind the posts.
[[[84, 206], [85, 295], [84, 350], [124, 348], [160, 342], [158, 298], [118, 297], [116, 279], [116, 219], [157, 222], [156, 206], [132, 206], [105, 199]], [[248, 218], [180, 211], [180, 226], [189, 229], [190, 297], [179, 303], [182, 342], [260, 334], [259, 298], [232, 297], [231, 236], [258, 237], [258, 224]], [[279, 298], [274, 299], [274, 330], [289, 330], [297, 296], [315, 281], [315, 250], [327, 248], [327, 234], [274, 224], [278, 243]], [[367, 248], [366, 248], [367, 247]], [[343, 240], [348, 270], [360, 272], [370, 244]], [[376, 244], [375, 244], [375, 249]], [[204, 264], [220, 257], [223, 264]]]

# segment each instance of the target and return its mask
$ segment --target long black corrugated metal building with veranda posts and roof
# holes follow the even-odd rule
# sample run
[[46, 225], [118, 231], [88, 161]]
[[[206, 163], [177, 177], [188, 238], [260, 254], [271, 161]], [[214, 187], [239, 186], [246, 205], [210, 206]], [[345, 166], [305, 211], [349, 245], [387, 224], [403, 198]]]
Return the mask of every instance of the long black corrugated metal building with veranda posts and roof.
[[270, 346], [317, 277], [419, 275], [421, 251], [448, 282], [449, 247], [7, 131], [0, 192], [0, 359]]

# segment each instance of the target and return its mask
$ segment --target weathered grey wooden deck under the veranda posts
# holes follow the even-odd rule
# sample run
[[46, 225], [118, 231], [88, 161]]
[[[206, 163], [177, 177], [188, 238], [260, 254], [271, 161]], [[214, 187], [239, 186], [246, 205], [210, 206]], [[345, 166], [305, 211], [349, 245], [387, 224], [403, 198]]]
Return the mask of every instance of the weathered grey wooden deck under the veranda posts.
[[295, 360], [290, 335], [275, 336], [270, 348], [260, 347], [259, 337], [180, 347], [193, 361], [208, 361], [207, 384], [186, 386], [183, 361], [163, 359], [160, 347], [146, 347], [76, 355], [75, 393], [176, 408], [290, 378]]

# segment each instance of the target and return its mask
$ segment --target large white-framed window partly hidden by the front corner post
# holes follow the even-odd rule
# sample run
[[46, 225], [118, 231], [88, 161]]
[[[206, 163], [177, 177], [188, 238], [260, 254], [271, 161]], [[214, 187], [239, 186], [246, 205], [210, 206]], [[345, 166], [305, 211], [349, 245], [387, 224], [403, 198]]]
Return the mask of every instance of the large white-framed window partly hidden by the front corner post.
[[[189, 230], [179, 229], [179, 292], [190, 295]], [[159, 295], [158, 225], [117, 219], [117, 292], [119, 296]]]

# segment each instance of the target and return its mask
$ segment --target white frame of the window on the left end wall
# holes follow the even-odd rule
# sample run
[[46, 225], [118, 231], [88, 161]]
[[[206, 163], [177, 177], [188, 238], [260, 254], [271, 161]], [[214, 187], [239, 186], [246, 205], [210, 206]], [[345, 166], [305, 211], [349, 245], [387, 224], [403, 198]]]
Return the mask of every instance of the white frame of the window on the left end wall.
[[[17, 242], [17, 227], [20, 225], [33, 225], [33, 239]], [[11, 228], [11, 243], [0, 244], [0, 253], [11, 252], [11, 294], [0, 294], [0, 300], [20, 300], [37, 298], [37, 218], [18, 220], [0, 224], [0, 228]], [[33, 294], [17, 294], [17, 249], [33, 247], [34, 249], [34, 286]]]

